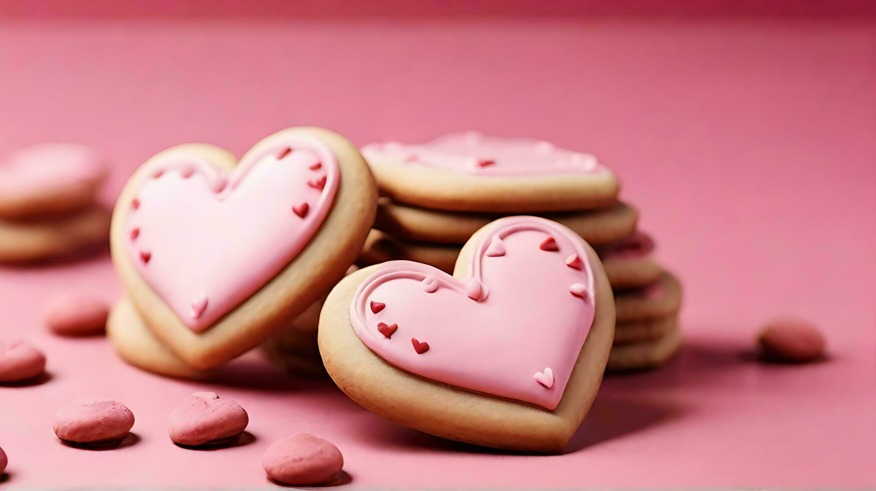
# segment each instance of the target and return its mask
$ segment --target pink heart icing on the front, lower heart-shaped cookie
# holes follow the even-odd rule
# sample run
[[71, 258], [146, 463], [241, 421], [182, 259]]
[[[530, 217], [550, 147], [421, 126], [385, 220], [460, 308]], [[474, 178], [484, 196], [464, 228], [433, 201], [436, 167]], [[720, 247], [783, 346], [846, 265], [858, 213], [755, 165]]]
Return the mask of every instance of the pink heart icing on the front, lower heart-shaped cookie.
[[[547, 236], [560, 254], [539, 249]], [[505, 254], [488, 256], [496, 238]], [[568, 228], [531, 216], [504, 218], [481, 236], [462, 279], [425, 264], [385, 263], [359, 285], [350, 322], [366, 346], [407, 372], [552, 410], [595, 314], [590, 264], [569, 268], [564, 258], [572, 254], [587, 257]], [[440, 288], [424, 290], [426, 279]], [[572, 284], [583, 287], [583, 297], [569, 294]], [[372, 312], [372, 298], [385, 308]], [[387, 339], [379, 323], [399, 331]], [[542, 383], [545, 367], [549, 386]], [[542, 381], [533, 380], [539, 372]]]

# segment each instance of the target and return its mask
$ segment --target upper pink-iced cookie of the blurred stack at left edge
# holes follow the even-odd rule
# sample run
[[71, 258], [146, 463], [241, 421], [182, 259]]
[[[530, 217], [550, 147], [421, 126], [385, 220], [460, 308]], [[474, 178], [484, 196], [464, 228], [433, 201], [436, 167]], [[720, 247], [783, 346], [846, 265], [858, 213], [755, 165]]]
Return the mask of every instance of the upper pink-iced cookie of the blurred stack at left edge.
[[21, 219], [88, 207], [106, 176], [95, 149], [38, 144], [0, 162], [0, 217]]

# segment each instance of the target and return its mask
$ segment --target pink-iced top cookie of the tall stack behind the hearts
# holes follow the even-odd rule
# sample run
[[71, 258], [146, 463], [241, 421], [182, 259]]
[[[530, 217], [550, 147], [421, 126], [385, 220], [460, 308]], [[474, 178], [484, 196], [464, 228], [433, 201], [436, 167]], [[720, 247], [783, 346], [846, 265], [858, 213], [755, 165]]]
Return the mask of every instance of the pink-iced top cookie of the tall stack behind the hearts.
[[362, 153], [380, 193], [450, 211], [534, 213], [609, 207], [614, 172], [586, 153], [529, 138], [470, 131], [427, 144], [368, 144]]

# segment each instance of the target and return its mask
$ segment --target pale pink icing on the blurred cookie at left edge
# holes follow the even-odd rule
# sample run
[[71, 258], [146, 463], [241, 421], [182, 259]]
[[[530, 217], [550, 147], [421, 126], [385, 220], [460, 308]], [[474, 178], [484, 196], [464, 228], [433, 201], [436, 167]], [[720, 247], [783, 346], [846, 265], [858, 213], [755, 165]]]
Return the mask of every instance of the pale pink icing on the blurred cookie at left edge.
[[106, 172], [95, 149], [81, 144], [39, 144], [0, 163], [0, 193], [50, 191], [101, 179]]

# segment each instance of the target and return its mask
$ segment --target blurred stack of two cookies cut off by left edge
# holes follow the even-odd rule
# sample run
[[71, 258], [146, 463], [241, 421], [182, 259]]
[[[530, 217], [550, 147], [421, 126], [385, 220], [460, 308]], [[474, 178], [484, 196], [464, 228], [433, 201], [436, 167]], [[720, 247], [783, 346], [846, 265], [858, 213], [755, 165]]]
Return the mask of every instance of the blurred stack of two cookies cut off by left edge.
[[105, 246], [109, 211], [96, 203], [105, 176], [102, 159], [86, 145], [39, 144], [0, 158], [0, 262]]

